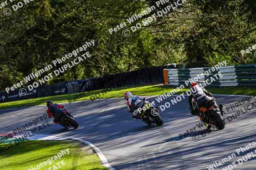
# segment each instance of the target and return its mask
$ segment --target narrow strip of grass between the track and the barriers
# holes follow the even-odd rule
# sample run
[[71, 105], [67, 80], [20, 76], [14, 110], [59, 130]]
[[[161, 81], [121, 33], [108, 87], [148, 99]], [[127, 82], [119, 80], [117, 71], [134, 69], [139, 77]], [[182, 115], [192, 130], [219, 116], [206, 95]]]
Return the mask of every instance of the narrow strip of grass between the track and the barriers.
[[[120, 87], [114, 88], [110, 92], [104, 90], [97, 90], [92, 92], [84, 92], [83, 96], [79, 99], [75, 99], [72, 101], [82, 101], [82, 100], [90, 100], [95, 99], [95, 95], [97, 94], [97, 99], [107, 99], [107, 98], [117, 98], [123, 97], [124, 92], [133, 92], [134, 94], [140, 96], [151, 96], [151, 95], [162, 95], [164, 92], [170, 92], [175, 87], [167, 86], [167, 85], [146, 85], [146, 86], [133, 86], [133, 87]], [[211, 92], [212, 94], [234, 94], [234, 95], [250, 95], [256, 96], [256, 88], [255, 87], [206, 87], [206, 90]], [[182, 89], [180, 92], [175, 94], [181, 94], [182, 92], [186, 92], [188, 88]], [[104, 92], [104, 93], [103, 93]], [[0, 104], [0, 109], [8, 109], [8, 108], [17, 108], [24, 106], [36, 106], [36, 105], [45, 105], [47, 100], [52, 100], [54, 103], [63, 103], [68, 102], [68, 99], [75, 98], [77, 95], [81, 95], [82, 93], [74, 93], [74, 94], [64, 94], [57, 96], [48, 96], [36, 99], [27, 99], [27, 100], [19, 100], [13, 102], [6, 102]], [[72, 102], [71, 102], [72, 103]]]

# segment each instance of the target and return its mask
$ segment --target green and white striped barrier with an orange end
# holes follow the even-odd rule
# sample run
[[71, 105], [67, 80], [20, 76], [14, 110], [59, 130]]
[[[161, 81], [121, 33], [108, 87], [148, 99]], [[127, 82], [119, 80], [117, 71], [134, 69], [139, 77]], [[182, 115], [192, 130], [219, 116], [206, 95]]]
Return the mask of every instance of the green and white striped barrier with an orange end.
[[[210, 68], [191, 68], [191, 69], [164, 69], [164, 84], [165, 85], [185, 85], [185, 81], [199, 77], [198, 82], [204, 82], [206, 79], [213, 77], [220, 72], [223, 76], [218, 77], [218, 80], [208, 86], [256, 86], [256, 65], [241, 65], [241, 66], [226, 66], [212, 72], [209, 76], [204, 73]], [[216, 78], [215, 78], [216, 79]]]

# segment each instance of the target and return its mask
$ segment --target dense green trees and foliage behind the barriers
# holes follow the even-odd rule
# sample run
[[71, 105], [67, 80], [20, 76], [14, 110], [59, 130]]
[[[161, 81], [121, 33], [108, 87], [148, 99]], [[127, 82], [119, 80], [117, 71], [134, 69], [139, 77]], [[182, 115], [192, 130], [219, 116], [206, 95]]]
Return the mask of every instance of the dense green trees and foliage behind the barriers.
[[[95, 40], [92, 55], [48, 84], [137, 70], [169, 63], [207, 67], [226, 59], [229, 65], [252, 64], [253, 54], [240, 51], [256, 42], [254, 0], [188, 1], [174, 11], [124, 37], [122, 32], [176, 0], [160, 7], [156, 0], [31, 1], [0, 22], [0, 89], [19, 82], [33, 70]], [[8, 8], [17, 2], [8, 2]], [[129, 24], [127, 18], [154, 5], [156, 10]], [[3, 14], [4, 8], [0, 9]], [[126, 22], [112, 35], [110, 28]], [[72, 59], [58, 64], [58, 69]], [[38, 79], [49, 74], [48, 71]]]

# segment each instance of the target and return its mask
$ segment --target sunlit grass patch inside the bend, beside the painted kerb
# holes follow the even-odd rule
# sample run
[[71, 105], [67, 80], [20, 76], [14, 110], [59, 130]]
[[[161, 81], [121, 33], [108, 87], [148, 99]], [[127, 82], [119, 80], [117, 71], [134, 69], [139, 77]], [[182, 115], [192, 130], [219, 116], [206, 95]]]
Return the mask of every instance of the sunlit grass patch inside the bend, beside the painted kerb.
[[[1, 147], [6, 145], [0, 144]], [[64, 170], [108, 170], [101, 165], [97, 154], [92, 152], [92, 148], [74, 141], [25, 141], [19, 144], [13, 144], [11, 149], [0, 152], [0, 169], [1, 170], [28, 170], [36, 168], [44, 161], [47, 165], [42, 164], [41, 170], [64, 169]], [[49, 161], [52, 157], [60, 153], [60, 150], [69, 150], [69, 154], [64, 154], [60, 159], [53, 158], [52, 163]], [[61, 164], [59, 163], [62, 161]], [[50, 164], [51, 163], [51, 164]], [[58, 165], [59, 163], [59, 165]], [[65, 165], [66, 164], [66, 165]], [[56, 166], [57, 168], [54, 168]]]

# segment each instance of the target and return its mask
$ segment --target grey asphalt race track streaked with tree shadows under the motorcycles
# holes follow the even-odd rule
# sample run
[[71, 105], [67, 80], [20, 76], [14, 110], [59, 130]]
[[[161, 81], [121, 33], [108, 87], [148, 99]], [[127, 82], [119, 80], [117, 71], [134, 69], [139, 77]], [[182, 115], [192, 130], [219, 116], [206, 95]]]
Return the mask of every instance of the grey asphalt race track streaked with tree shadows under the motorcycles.
[[[149, 100], [154, 98], [147, 97]], [[171, 98], [160, 104], [156, 102], [156, 106], [170, 101]], [[222, 169], [256, 149], [255, 146], [239, 156], [236, 153], [236, 149], [256, 141], [256, 107], [253, 109], [248, 107], [250, 111], [244, 110], [246, 113], [236, 115], [238, 110], [251, 106], [252, 102], [255, 103], [256, 98], [252, 98], [250, 102], [246, 100], [243, 105], [230, 109], [229, 112], [227, 107], [230, 104], [242, 101], [245, 97], [216, 95], [215, 98], [218, 104], [224, 105], [226, 112], [224, 115], [226, 127], [223, 130], [205, 131], [205, 127], [199, 129], [196, 124], [200, 123], [200, 120], [190, 114], [187, 99], [161, 112], [164, 119], [163, 126], [147, 127], [140, 120], [132, 119], [122, 98], [86, 101], [85, 106], [81, 102], [63, 104], [74, 115], [79, 128], [64, 130], [62, 126], [52, 124], [42, 132], [87, 140], [98, 147], [108, 159], [108, 163], [118, 170], [204, 170], [215, 161], [219, 162], [235, 153], [236, 158], [214, 168]], [[45, 111], [46, 106], [1, 110], [0, 133], [8, 133], [17, 127], [22, 127], [25, 123], [45, 114]], [[236, 119], [231, 120], [232, 115]], [[228, 121], [228, 116], [231, 121]], [[184, 134], [193, 128], [196, 132], [179, 137], [179, 134]], [[236, 162], [234, 169], [255, 170], [255, 158], [249, 159], [242, 165]]]

